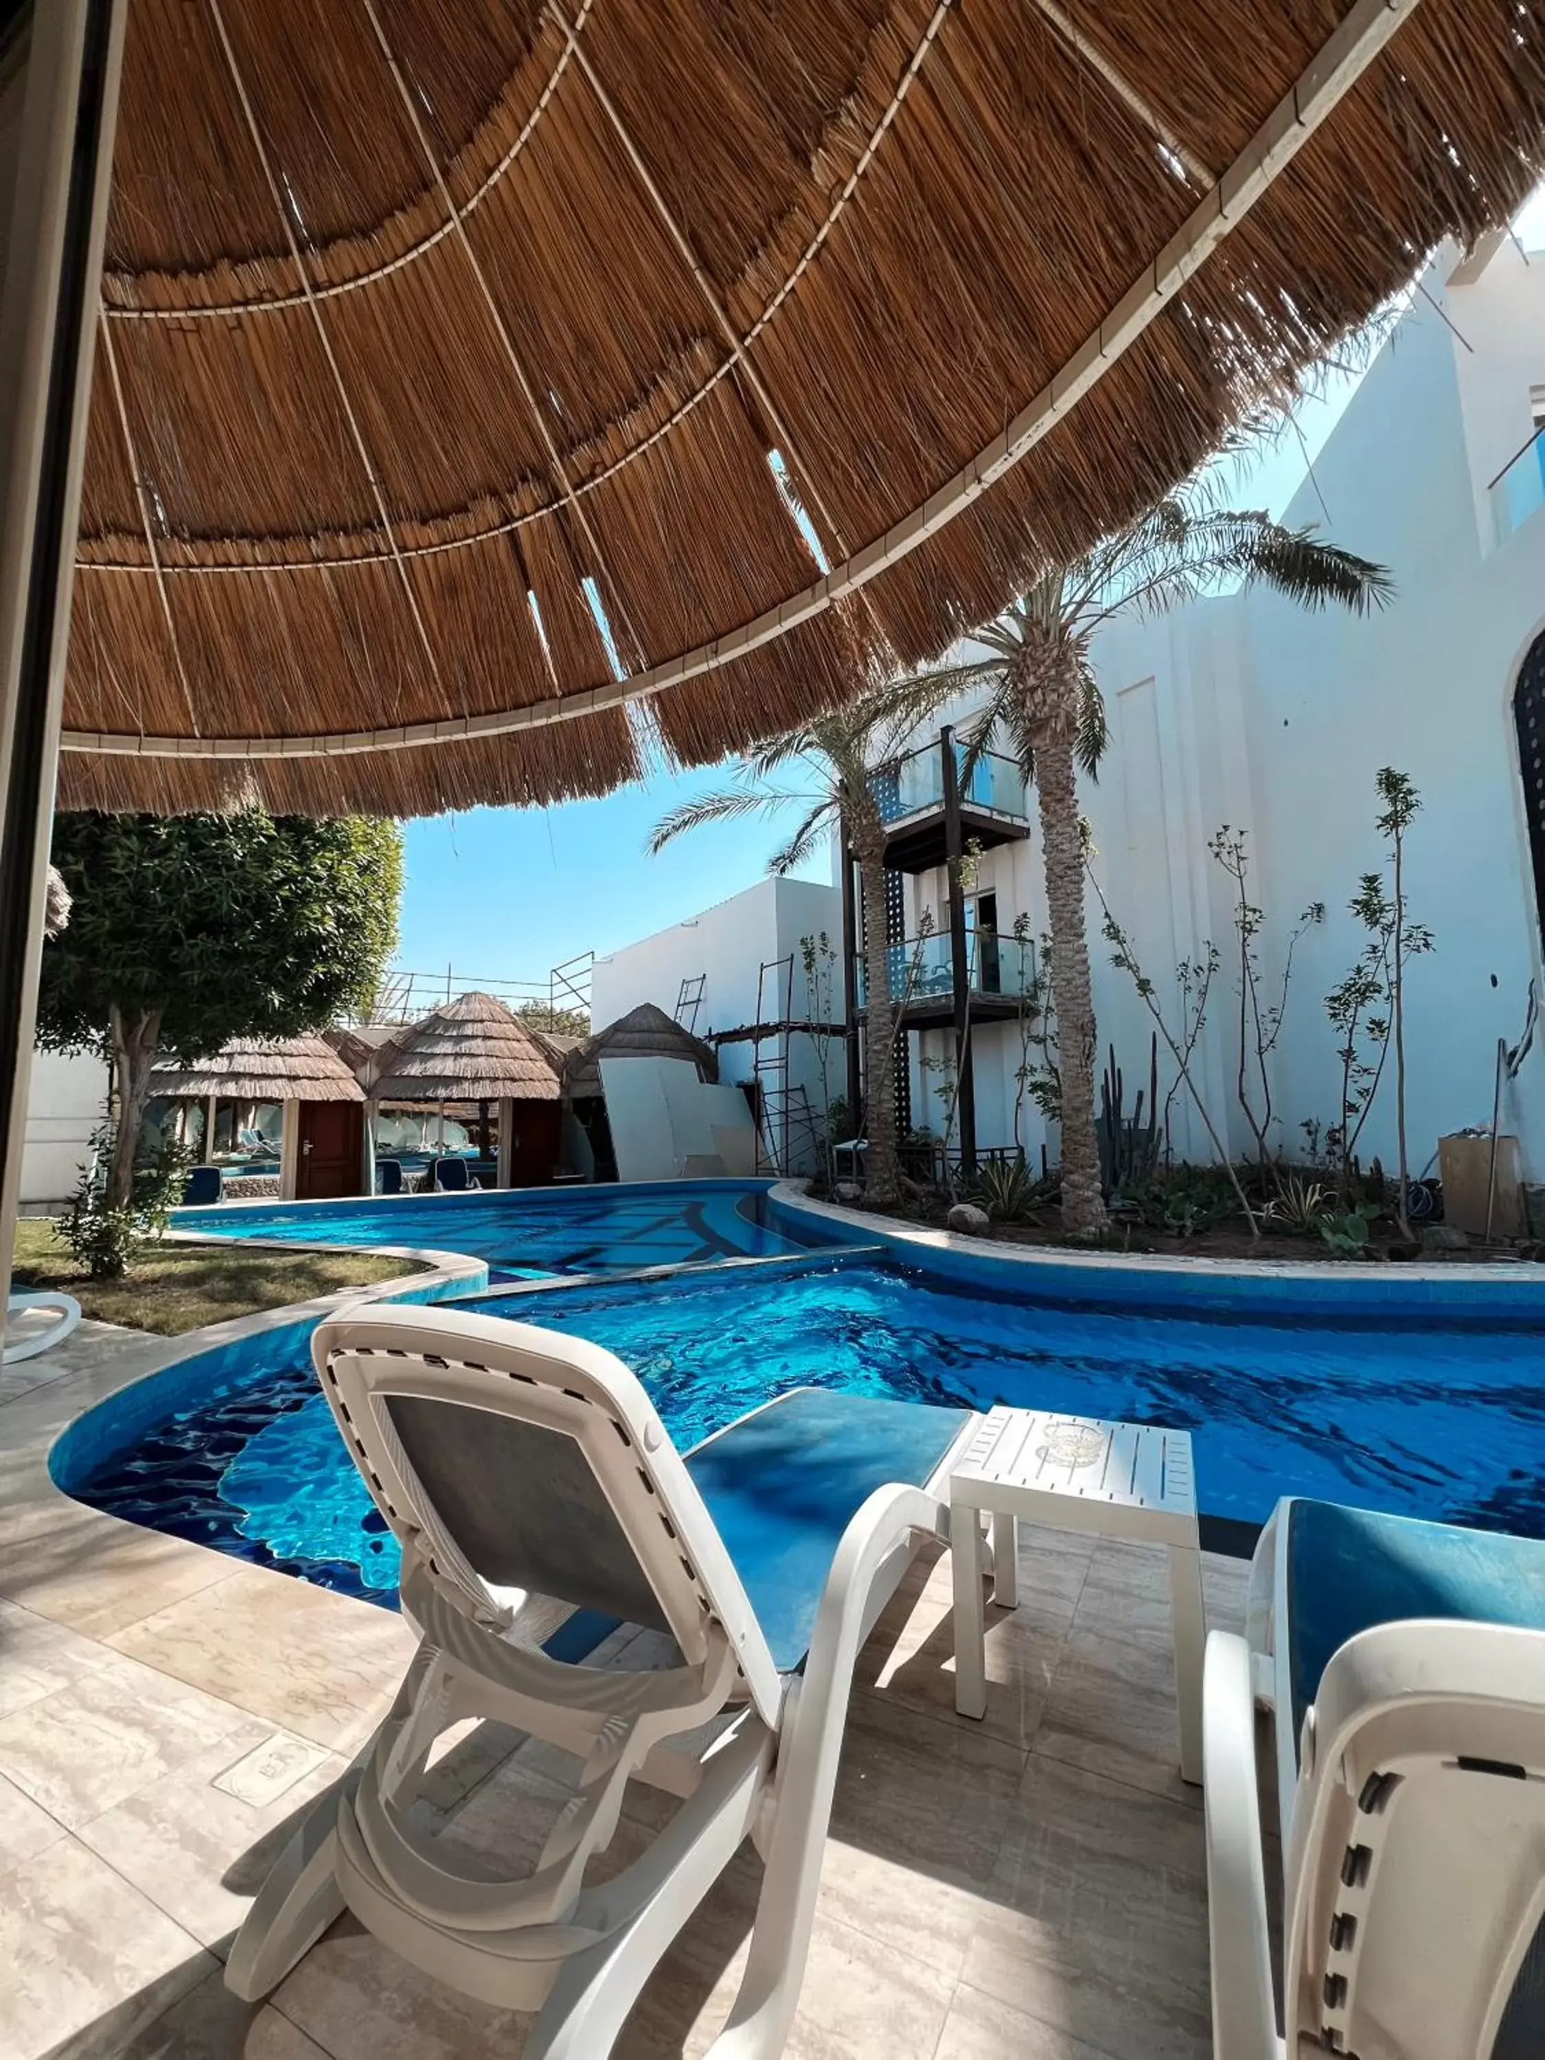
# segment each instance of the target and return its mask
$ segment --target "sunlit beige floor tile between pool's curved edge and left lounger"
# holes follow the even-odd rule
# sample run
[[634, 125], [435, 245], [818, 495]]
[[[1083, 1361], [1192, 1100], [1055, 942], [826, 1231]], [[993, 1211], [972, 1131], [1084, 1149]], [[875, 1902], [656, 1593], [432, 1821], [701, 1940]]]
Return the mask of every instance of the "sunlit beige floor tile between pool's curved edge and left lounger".
[[142, 1617], [111, 1642], [344, 1753], [385, 1714], [416, 1644], [391, 1609], [249, 1566], [218, 1588]]

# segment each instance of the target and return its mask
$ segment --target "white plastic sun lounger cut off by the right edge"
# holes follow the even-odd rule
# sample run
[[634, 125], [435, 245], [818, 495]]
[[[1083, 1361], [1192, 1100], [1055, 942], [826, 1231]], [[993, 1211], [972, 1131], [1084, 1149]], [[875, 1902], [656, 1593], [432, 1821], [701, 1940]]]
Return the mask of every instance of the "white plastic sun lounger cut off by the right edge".
[[[1217, 2060], [1545, 2054], [1545, 1543], [1290, 1500], [1203, 1693]], [[1257, 1794], [1275, 1724], [1281, 2033]]]

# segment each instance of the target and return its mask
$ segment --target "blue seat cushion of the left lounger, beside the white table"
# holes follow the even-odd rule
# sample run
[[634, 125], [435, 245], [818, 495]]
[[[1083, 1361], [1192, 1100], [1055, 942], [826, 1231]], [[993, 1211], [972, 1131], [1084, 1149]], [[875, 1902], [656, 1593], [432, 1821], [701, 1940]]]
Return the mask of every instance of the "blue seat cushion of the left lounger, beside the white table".
[[849, 1518], [890, 1481], [923, 1487], [968, 1415], [795, 1388], [686, 1454], [779, 1673], [810, 1650]]

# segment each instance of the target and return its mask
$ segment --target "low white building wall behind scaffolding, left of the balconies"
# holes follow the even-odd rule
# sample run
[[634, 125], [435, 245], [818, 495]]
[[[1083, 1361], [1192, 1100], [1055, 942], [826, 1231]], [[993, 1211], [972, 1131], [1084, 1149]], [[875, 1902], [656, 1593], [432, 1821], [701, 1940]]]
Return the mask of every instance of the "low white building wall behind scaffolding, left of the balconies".
[[[801, 939], [830, 939], [838, 954], [830, 976], [818, 978], [820, 993], [810, 991], [801, 956]], [[591, 1022], [602, 1028], [653, 1001], [676, 1016], [682, 981], [705, 974], [702, 1005], [696, 1014], [696, 1034], [737, 1030], [758, 1020], [758, 972], [766, 962], [760, 1018], [764, 1022], [793, 1016], [799, 1020], [830, 1020], [828, 1040], [795, 1034], [787, 1040], [766, 1038], [762, 1059], [787, 1059], [791, 1088], [803, 1088], [812, 1112], [824, 1117], [828, 1096], [843, 1092], [845, 1051], [843, 1022], [843, 900], [836, 888], [818, 880], [758, 880], [756, 886], [715, 902], [686, 923], [655, 931], [637, 943], [622, 946], [608, 958], [597, 958], [591, 972]], [[775, 972], [772, 962], [793, 958], [793, 991], [787, 970]], [[690, 1018], [688, 1018], [690, 1022]], [[719, 1077], [723, 1082], [752, 1079], [756, 1046], [733, 1042], [719, 1046]], [[799, 1139], [793, 1139], [795, 1143]], [[797, 1160], [795, 1160], [797, 1162]]]

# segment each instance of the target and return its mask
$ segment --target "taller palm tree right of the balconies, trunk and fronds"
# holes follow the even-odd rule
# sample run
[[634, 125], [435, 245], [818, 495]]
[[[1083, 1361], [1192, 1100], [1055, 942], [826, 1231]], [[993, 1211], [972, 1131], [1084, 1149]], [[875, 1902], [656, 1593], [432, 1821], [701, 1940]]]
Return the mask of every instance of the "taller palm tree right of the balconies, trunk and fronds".
[[1084, 830], [1077, 768], [1094, 779], [1106, 744], [1090, 637], [1121, 614], [1164, 614], [1226, 581], [1275, 587], [1302, 608], [1382, 608], [1395, 583], [1382, 564], [1288, 529], [1261, 513], [1211, 505], [1199, 488], [1170, 494], [1131, 527], [1071, 564], [1053, 564], [972, 643], [985, 657], [927, 678], [948, 696], [989, 688], [978, 737], [1001, 725], [1034, 779], [1046, 871], [1051, 978], [1063, 1079], [1063, 1230], [1104, 1230], [1094, 1139], [1094, 999], [1084, 933]]

